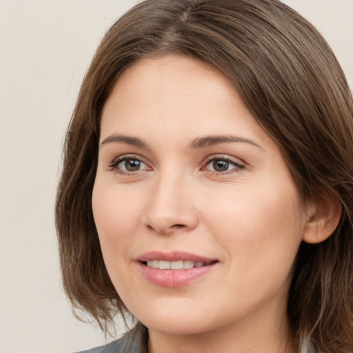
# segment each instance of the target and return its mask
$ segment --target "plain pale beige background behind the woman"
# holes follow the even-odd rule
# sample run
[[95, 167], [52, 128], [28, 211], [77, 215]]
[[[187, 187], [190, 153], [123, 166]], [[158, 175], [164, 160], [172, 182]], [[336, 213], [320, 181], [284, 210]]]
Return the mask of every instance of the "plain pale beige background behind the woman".
[[[288, 0], [353, 87], [353, 0]], [[0, 353], [104, 343], [61, 290], [53, 207], [65, 126], [103, 33], [134, 0], [0, 0]], [[121, 333], [121, 331], [120, 331]]]

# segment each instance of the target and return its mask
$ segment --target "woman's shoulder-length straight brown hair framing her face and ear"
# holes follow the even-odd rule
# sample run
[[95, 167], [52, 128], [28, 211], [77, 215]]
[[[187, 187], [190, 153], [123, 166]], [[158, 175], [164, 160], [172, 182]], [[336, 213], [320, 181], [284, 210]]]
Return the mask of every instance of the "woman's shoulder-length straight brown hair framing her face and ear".
[[105, 269], [92, 216], [99, 123], [119, 74], [143, 57], [208, 62], [238, 90], [278, 143], [303, 202], [343, 209], [327, 241], [302, 243], [288, 296], [298, 346], [353, 352], [353, 101], [321, 34], [277, 0], [148, 0], [105, 34], [68, 128], [56, 219], [65, 291], [107, 329], [125, 307]]

